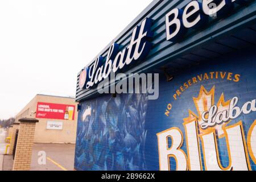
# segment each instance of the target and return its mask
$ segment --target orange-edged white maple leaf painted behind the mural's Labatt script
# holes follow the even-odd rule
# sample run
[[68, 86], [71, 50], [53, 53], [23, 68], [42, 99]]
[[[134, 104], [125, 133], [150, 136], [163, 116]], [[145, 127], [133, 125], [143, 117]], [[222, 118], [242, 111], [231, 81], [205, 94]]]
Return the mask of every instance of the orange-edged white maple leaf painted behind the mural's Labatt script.
[[[200, 127], [201, 124], [204, 123], [204, 121], [202, 119], [202, 114], [205, 111], [209, 111], [210, 107], [215, 105], [214, 92], [215, 92], [215, 86], [213, 86], [213, 88], [208, 92], [202, 85], [200, 92], [199, 92], [199, 96], [193, 97], [193, 102], [196, 106], [197, 114], [195, 114], [195, 113], [193, 113], [193, 111], [189, 110], [188, 117], [184, 118], [183, 121], [185, 123], [187, 123], [187, 122], [195, 121], [195, 119], [196, 119], [196, 121], [199, 124], [200, 134], [209, 133], [209, 132], [215, 130], [218, 137], [222, 138], [222, 137], [224, 137], [223, 127], [228, 125], [228, 123], [231, 121], [231, 119], [228, 122], [221, 123], [220, 125], [215, 125], [214, 127], [208, 127], [207, 129], [202, 129]], [[220, 100], [218, 100], [218, 102], [216, 104], [216, 106], [218, 108], [218, 112], [221, 112], [224, 110], [229, 110], [230, 101], [231, 100], [225, 101], [224, 93], [222, 93], [220, 96]]]

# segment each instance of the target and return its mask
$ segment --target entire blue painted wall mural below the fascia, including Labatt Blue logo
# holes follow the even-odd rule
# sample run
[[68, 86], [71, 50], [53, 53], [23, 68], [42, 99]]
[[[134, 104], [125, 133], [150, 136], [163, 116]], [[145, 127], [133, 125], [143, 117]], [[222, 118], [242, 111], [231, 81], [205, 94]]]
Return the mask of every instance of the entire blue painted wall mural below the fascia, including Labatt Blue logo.
[[183, 69], [160, 80], [158, 100], [82, 102], [75, 168], [255, 170], [255, 57], [253, 48]]

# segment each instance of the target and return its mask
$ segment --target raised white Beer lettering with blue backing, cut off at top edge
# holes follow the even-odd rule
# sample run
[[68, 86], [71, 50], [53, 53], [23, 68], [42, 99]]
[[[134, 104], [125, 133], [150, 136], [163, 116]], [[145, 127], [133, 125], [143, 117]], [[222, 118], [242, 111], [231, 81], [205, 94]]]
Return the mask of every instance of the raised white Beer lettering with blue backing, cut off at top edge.
[[250, 0], [203, 0], [191, 1], [185, 8], [172, 9], [166, 14], [167, 40], [180, 39], [188, 28], [201, 28], [208, 22], [208, 16], [221, 16], [232, 10], [234, 3], [244, 5]]

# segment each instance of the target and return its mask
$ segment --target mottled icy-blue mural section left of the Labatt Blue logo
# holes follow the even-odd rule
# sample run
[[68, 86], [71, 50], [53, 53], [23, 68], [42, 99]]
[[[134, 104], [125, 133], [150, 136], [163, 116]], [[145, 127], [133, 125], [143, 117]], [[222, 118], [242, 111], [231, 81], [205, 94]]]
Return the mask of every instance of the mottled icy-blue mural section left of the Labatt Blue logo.
[[104, 96], [82, 104], [75, 167], [79, 170], [146, 169], [146, 94]]

